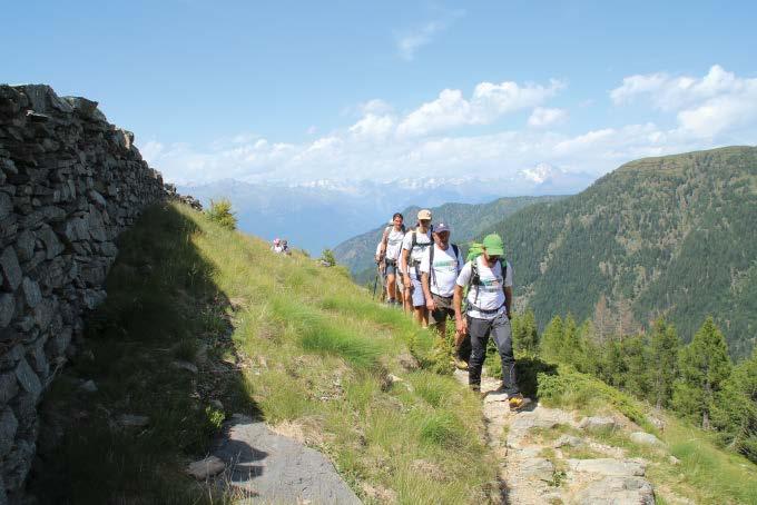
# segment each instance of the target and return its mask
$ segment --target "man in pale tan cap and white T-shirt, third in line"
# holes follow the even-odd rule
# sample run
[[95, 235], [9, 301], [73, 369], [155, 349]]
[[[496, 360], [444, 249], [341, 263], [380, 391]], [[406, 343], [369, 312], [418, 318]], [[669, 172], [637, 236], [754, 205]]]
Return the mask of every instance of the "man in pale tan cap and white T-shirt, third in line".
[[422, 209], [417, 212], [417, 228], [405, 234], [402, 240], [402, 256], [400, 270], [402, 270], [402, 283], [405, 287], [405, 298], [412, 305], [415, 320], [422, 327], [429, 327], [429, 310], [425, 306], [423, 286], [421, 285], [421, 260], [426, 248], [432, 244], [431, 240], [431, 210]]

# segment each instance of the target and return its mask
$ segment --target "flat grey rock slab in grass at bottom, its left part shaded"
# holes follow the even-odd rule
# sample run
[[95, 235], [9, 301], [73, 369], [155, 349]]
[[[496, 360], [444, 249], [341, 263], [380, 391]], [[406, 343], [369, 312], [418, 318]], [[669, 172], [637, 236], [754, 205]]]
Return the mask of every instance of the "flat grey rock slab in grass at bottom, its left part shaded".
[[321, 453], [246, 416], [232, 417], [213, 454], [226, 464], [225, 481], [245, 493], [245, 503], [361, 503]]

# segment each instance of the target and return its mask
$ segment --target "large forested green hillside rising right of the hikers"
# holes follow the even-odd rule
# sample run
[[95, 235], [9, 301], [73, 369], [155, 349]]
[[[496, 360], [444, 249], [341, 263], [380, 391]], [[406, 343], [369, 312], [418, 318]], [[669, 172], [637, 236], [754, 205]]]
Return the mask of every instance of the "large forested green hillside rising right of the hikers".
[[623, 165], [579, 195], [525, 208], [482, 231], [505, 239], [518, 305], [543, 327], [594, 319], [600, 336], [658, 315], [684, 340], [711, 314], [734, 356], [757, 334], [757, 148]]

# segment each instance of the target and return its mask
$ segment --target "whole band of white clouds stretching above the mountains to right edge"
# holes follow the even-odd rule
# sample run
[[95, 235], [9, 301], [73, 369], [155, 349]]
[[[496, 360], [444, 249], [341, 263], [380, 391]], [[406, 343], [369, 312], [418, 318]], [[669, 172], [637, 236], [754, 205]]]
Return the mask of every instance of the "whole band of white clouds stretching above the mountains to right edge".
[[[161, 170], [166, 180], [179, 184], [224, 178], [303, 184], [471, 176], [534, 182], [549, 179], [554, 184], [569, 181], [576, 174], [599, 176], [645, 156], [754, 142], [757, 138], [757, 97], [751, 99], [754, 79], [728, 77], [720, 70], [711, 70], [708, 76], [684, 81], [627, 78], [618, 88], [623, 91], [615, 93], [613, 100], [626, 103], [643, 98], [660, 110], [661, 120], [611, 128], [598, 123], [571, 133], [551, 129], [568, 117], [568, 110], [544, 106], [563, 86], [561, 82], [483, 82], [470, 97], [460, 90], [443, 90], [435, 100], [406, 115], [394, 112], [390, 103], [371, 100], [353, 109], [361, 115], [351, 123], [296, 143], [247, 133], [218, 139], [207, 147], [157, 140], [138, 145], [145, 159]], [[675, 95], [666, 86], [678, 93], [674, 100], [678, 106], [671, 110], [662, 110], [655, 102], [655, 93]], [[684, 97], [682, 88], [689, 89], [691, 97]], [[455, 130], [491, 125], [518, 110], [531, 112], [528, 125], [518, 129], [492, 128], [486, 135], [462, 135]], [[661, 126], [666, 118], [669, 125]], [[548, 174], [547, 166], [559, 169]]]

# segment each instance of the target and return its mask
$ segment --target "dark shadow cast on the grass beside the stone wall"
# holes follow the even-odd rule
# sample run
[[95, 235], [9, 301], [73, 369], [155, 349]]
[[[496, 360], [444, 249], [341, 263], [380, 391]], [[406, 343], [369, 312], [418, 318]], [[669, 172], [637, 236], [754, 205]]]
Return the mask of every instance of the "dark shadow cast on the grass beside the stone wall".
[[[119, 237], [108, 298], [87, 317], [76, 358], [41, 406], [28, 484], [40, 503], [209, 502], [184, 465], [207, 454], [227, 414], [260, 418], [228, 364], [239, 363], [232, 304], [193, 244], [200, 232], [156, 205]], [[86, 393], [85, 380], [97, 390]], [[148, 422], [124, 427], [122, 415]]]

